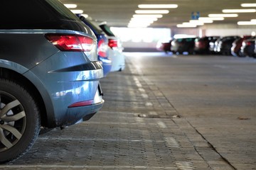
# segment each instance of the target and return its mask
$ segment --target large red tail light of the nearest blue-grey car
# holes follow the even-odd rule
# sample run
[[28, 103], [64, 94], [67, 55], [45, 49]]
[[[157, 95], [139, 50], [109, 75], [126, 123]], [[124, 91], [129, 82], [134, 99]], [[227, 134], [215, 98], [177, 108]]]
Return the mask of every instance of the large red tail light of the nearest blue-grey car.
[[61, 51], [90, 52], [93, 39], [83, 35], [46, 34], [46, 38]]

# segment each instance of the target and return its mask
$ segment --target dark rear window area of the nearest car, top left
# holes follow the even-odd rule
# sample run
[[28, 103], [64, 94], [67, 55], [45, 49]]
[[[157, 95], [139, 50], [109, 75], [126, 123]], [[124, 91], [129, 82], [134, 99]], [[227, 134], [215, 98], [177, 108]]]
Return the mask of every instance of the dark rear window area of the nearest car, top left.
[[58, 0], [1, 0], [0, 19], [0, 29], [57, 28], [60, 20], [79, 20]]

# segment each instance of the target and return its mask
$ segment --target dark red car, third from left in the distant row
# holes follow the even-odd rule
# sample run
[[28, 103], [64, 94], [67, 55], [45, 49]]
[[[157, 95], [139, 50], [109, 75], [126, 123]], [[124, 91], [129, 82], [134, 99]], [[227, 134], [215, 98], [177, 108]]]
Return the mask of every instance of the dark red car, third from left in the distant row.
[[218, 36], [205, 36], [202, 38], [196, 38], [194, 52], [196, 54], [209, 54], [210, 42], [217, 40]]

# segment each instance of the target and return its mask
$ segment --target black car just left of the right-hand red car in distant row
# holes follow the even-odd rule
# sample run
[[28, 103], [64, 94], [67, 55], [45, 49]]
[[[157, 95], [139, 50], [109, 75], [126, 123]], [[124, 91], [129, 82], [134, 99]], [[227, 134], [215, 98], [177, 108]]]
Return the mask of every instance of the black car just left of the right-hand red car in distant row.
[[220, 38], [216, 46], [216, 52], [221, 55], [231, 55], [232, 44], [237, 38], [239, 36], [224, 36]]

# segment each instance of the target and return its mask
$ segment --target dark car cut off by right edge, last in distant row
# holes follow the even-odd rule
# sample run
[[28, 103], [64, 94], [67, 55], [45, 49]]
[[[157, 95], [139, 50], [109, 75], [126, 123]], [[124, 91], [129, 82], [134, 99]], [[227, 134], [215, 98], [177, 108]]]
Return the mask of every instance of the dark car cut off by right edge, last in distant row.
[[255, 37], [242, 41], [241, 53], [243, 56], [255, 57]]

